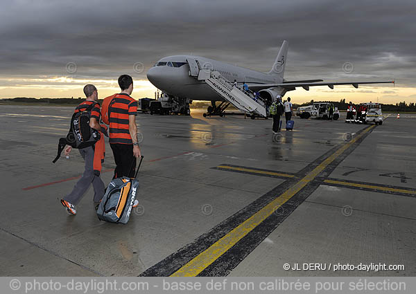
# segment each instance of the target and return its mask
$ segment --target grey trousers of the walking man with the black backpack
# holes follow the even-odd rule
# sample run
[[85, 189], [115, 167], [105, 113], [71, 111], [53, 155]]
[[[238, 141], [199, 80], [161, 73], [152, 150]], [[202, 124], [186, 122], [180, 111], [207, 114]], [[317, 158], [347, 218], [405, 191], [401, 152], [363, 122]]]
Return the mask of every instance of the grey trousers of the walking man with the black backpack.
[[89, 185], [92, 183], [94, 187], [94, 202], [99, 202], [104, 196], [105, 187], [100, 176], [94, 174], [94, 149], [87, 147], [79, 149], [79, 151], [85, 160], [85, 171], [83, 176], [76, 182], [72, 192], [65, 196], [64, 200], [73, 205], [78, 205]]

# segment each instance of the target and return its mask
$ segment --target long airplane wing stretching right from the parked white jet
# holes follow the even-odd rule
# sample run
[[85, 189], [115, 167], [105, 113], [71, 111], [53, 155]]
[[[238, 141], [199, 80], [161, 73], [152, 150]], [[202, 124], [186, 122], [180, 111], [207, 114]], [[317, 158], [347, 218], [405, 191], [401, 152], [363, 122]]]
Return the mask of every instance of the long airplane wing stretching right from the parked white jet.
[[383, 82], [311, 82], [315, 80], [309, 80], [308, 82], [283, 82], [281, 84], [248, 84], [248, 88], [252, 91], [260, 91], [262, 89], [281, 87], [284, 89], [295, 90], [297, 87], [302, 87], [306, 91], [309, 91], [309, 86], [329, 86], [333, 89], [333, 86], [351, 84], [355, 88], [358, 88], [358, 84], [386, 84], [395, 83], [395, 81], [383, 81]]

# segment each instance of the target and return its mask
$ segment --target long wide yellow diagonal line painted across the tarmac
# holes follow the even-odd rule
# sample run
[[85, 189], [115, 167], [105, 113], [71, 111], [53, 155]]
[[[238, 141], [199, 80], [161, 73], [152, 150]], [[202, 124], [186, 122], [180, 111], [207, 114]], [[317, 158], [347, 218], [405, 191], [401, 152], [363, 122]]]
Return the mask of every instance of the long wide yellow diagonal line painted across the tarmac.
[[333, 160], [335, 160], [340, 154], [342, 154], [348, 147], [361, 138], [367, 131], [370, 131], [375, 127], [372, 125], [365, 129], [360, 135], [358, 135], [353, 140], [349, 141], [343, 147], [340, 147], [335, 151], [331, 156], [325, 159], [320, 165], [315, 167], [309, 174], [306, 174], [304, 178], [300, 179], [295, 185], [286, 190], [283, 194], [278, 196], [275, 200], [268, 203], [261, 210], [253, 214], [249, 219], [245, 220], [239, 226], [230, 231], [227, 235], [216, 241], [205, 251], [201, 252], [199, 255], [191, 259], [187, 264], [182, 266], [179, 270], [171, 275], [171, 277], [195, 277], [202, 270], [205, 270], [210, 264], [212, 264], [216, 259], [223, 255], [229, 248], [232, 248], [238, 241], [240, 241], [245, 235], [248, 235], [254, 228], [256, 228], [262, 221], [270, 217], [270, 215], [275, 212], [281, 205], [286, 203], [291, 199], [297, 192], [299, 192], [304, 186], [322, 172], [322, 170], [327, 167]]

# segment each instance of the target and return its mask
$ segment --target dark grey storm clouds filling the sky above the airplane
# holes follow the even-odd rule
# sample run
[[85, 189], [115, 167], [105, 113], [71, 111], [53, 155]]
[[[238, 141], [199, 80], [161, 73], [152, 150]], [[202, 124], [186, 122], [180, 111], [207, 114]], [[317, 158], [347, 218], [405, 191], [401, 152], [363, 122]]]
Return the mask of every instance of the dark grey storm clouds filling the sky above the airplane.
[[288, 78], [416, 78], [413, 0], [10, 2], [0, 11], [1, 77], [68, 75], [75, 62], [77, 76], [145, 78], [157, 59], [182, 53], [268, 71], [287, 39]]

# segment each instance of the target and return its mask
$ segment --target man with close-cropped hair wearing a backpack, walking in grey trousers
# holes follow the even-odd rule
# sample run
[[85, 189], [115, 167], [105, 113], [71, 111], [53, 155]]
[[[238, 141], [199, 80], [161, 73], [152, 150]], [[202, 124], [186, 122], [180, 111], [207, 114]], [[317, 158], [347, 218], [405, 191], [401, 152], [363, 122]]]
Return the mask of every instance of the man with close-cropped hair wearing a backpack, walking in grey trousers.
[[[98, 208], [98, 204], [104, 196], [104, 183], [101, 181], [100, 172], [105, 155], [103, 133], [106, 134], [107, 127], [98, 123], [100, 121], [101, 113], [96, 87], [92, 84], [87, 84], [84, 87], [84, 93], [87, 99], [76, 107], [75, 112], [85, 111], [90, 105], [95, 104], [89, 116], [89, 127], [100, 131], [101, 137], [93, 146], [78, 149], [85, 160], [85, 171], [83, 172], [83, 176], [81, 176], [73, 187], [71, 193], [61, 199], [61, 203], [67, 208], [67, 212], [73, 215], [76, 214], [76, 205], [78, 205], [83, 198], [91, 183], [94, 187], [94, 205], [96, 208]], [[69, 156], [71, 150], [72, 147], [67, 145], [64, 149], [64, 154]]]

